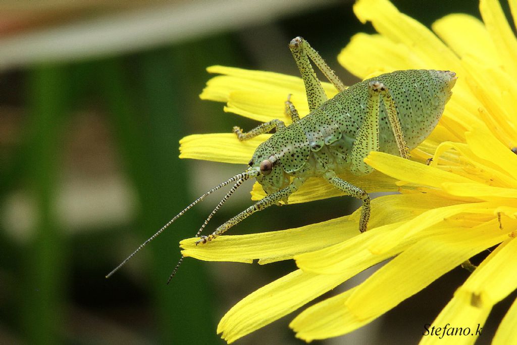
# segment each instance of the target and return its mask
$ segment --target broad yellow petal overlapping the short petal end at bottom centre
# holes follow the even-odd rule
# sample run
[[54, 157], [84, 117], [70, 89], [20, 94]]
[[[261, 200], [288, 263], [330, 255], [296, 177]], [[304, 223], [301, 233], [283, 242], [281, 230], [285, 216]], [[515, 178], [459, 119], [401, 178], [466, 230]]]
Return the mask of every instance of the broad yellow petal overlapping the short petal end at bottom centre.
[[478, 252], [508, 238], [496, 223], [450, 229], [421, 239], [364, 281], [346, 306], [359, 320], [380, 316]]

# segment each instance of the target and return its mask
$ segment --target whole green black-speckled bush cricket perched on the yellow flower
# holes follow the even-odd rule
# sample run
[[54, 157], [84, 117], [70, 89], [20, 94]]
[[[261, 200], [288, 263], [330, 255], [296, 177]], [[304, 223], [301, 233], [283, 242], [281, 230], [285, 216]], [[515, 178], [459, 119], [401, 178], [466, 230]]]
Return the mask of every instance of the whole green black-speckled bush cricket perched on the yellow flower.
[[[107, 278], [188, 209], [230, 184], [233, 187], [197, 232], [196, 237], [200, 239], [196, 245], [212, 241], [257, 211], [280, 201], [287, 202], [288, 197], [311, 177], [322, 177], [340, 191], [362, 200], [359, 231], [367, 230], [370, 217], [368, 193], [338, 175], [345, 171], [355, 175], [372, 172], [373, 169], [363, 161], [371, 151], [408, 158], [408, 152], [436, 127], [457, 77], [451, 71], [404, 70], [382, 74], [346, 88], [306, 40], [296, 37], [289, 48], [305, 84], [310, 113], [300, 118], [287, 96], [285, 114], [291, 118], [291, 125], [285, 126], [280, 119], [273, 119], [248, 132], [234, 127], [233, 131], [241, 141], [273, 129], [276, 132], [256, 148], [244, 172], [227, 179], [192, 202], [140, 245]], [[311, 61], [338, 89], [339, 93], [332, 99], [327, 98]], [[244, 181], [252, 177], [262, 185], [267, 196], [224, 222], [212, 234], [200, 236], [221, 205]], [[183, 256], [169, 281], [182, 261]]]

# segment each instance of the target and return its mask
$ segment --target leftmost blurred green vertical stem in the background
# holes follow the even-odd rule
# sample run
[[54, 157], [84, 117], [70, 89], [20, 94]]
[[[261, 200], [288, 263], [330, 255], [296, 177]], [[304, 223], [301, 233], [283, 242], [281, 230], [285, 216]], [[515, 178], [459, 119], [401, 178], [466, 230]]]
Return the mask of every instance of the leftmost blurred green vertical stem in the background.
[[64, 236], [55, 215], [60, 133], [66, 111], [67, 77], [57, 66], [29, 72], [29, 155], [26, 163], [29, 188], [35, 200], [35, 236], [28, 246], [23, 296], [25, 337], [31, 344], [57, 344], [64, 331]]

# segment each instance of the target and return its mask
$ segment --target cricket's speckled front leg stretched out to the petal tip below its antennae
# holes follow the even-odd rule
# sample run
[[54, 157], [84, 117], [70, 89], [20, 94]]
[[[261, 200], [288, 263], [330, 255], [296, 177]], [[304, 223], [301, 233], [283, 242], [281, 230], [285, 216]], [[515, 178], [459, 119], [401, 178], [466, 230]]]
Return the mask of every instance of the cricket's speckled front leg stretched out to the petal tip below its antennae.
[[199, 244], [204, 244], [209, 241], [212, 241], [212, 239], [214, 239], [214, 238], [218, 237], [219, 235], [221, 235], [222, 233], [226, 232], [226, 230], [230, 229], [235, 224], [240, 223], [242, 220], [248, 218], [255, 212], [262, 211], [264, 208], [274, 205], [284, 198], [287, 199], [292, 193], [294, 193], [295, 191], [298, 190], [298, 188], [300, 188], [300, 186], [303, 184], [303, 182], [305, 182], [305, 180], [306, 180], [305, 178], [293, 179], [293, 182], [290, 185], [288, 185], [287, 187], [269, 194], [268, 196], [264, 197], [263, 199], [257, 201], [252, 206], [245, 209], [245, 211], [242, 211], [235, 217], [227, 220], [224, 224], [222, 224], [219, 228], [217, 228], [216, 231], [214, 231], [211, 235], [201, 236], [200, 239], [198, 239], [195, 242], [196, 246]]

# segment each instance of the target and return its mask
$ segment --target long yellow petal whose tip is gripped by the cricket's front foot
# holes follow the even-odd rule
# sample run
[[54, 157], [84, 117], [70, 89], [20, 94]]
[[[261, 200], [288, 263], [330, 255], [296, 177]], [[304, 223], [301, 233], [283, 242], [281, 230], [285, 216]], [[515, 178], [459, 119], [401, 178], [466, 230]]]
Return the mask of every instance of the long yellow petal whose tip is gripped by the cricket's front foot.
[[[441, 203], [440, 203], [441, 201]], [[420, 214], [428, 207], [436, 207], [450, 203], [442, 198], [426, 196], [421, 194], [389, 195], [372, 200], [372, 215], [369, 221], [371, 228], [383, 224], [400, 222]], [[356, 219], [357, 218], [357, 219]], [[189, 238], [181, 241], [180, 245], [184, 250], [182, 253], [186, 257], [194, 257], [205, 261], [234, 261], [251, 263], [254, 259], [259, 259], [258, 263], [266, 264], [279, 260], [291, 259], [293, 256], [311, 252], [308, 260], [316, 255], [325, 264], [332, 262], [342, 263], [351, 254], [347, 254], [348, 249], [341, 250], [344, 258], [327, 258], [324, 254], [318, 254], [317, 250], [329, 248], [340, 243], [343, 245], [347, 239], [359, 235], [358, 214], [331, 219], [321, 223], [310, 224], [297, 229], [282, 231], [272, 231], [249, 235], [221, 236], [216, 241], [207, 245], [196, 246], [194, 243], [198, 238]], [[368, 234], [368, 235], [367, 235]], [[361, 236], [374, 237], [372, 232]], [[359, 243], [366, 243], [366, 237], [359, 237]], [[356, 247], [350, 244], [349, 247]], [[330, 248], [329, 248], [330, 249]], [[326, 252], [326, 251], [325, 251]], [[339, 252], [339, 251], [338, 251]], [[378, 262], [378, 261], [377, 261]], [[376, 262], [375, 262], [376, 263]], [[300, 267], [305, 268], [305, 267]], [[330, 273], [335, 273], [330, 271]]]

